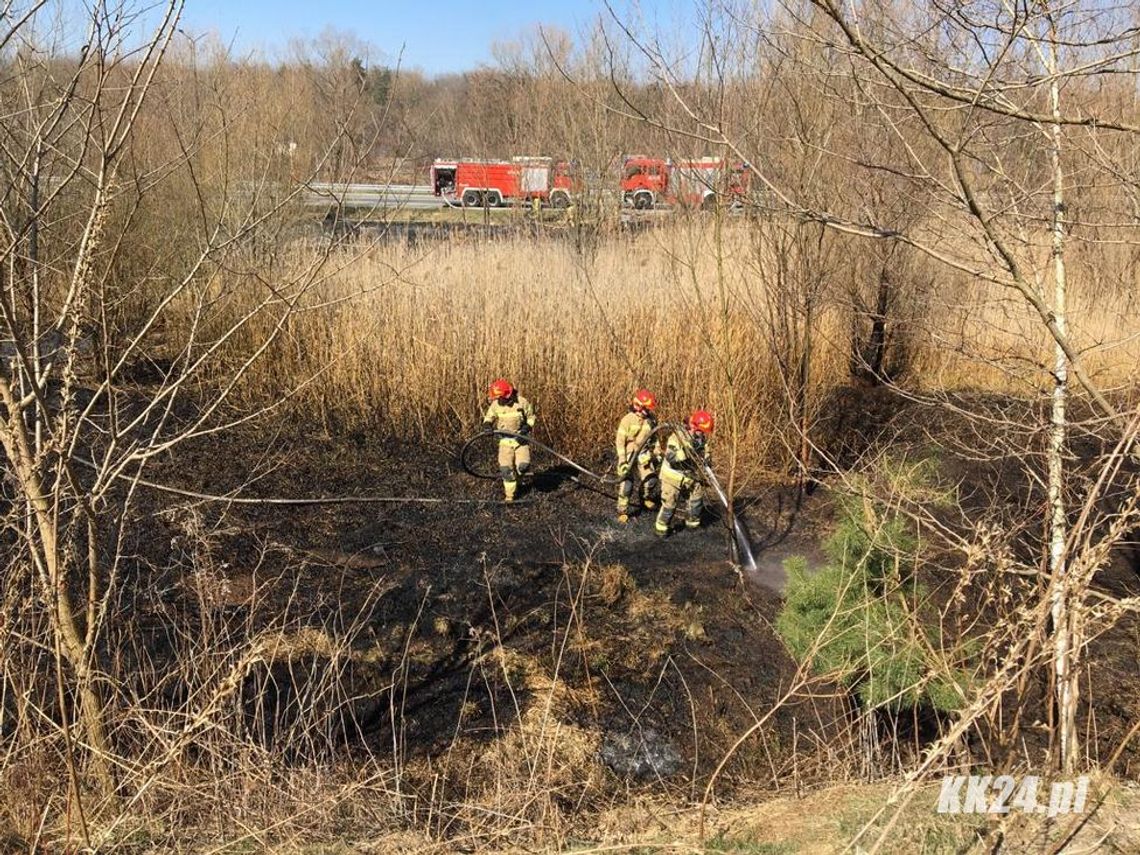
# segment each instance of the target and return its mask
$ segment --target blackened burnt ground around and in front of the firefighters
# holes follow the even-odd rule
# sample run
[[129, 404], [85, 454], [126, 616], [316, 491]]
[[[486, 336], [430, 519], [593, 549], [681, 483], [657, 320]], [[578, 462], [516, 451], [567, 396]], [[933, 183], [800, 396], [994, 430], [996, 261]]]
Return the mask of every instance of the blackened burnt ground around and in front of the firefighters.
[[[849, 409], [860, 406], [860, 400], [848, 404]], [[937, 439], [943, 470], [967, 489], [967, 510], [971, 502], [980, 510], [1032, 506], [1032, 491], [1021, 481], [1024, 461], [1005, 457], [983, 465], [955, 457], [959, 440], [951, 437], [952, 425], [926, 414], [907, 422], [906, 405], [885, 396], [869, 406], [863, 412], [873, 417], [862, 420], [864, 433], [842, 435], [844, 459], [857, 458], [876, 442], [929, 448]], [[149, 475], [207, 492], [226, 492], [255, 477], [245, 496], [498, 499], [497, 482], [473, 479], [461, 469], [459, 445], [251, 431], [235, 434], [221, 449], [204, 442], [189, 449], [177, 469], [156, 467]], [[492, 470], [492, 445], [480, 454]], [[258, 462], [252, 470], [251, 461]], [[601, 459], [580, 462], [604, 466]], [[750, 580], [741, 579], [728, 561], [723, 523], [709, 519], [699, 531], [682, 530], [662, 542], [653, 535], [651, 513], [618, 524], [610, 496], [575, 483], [564, 467], [542, 455], [523, 500], [513, 506], [233, 506], [225, 513], [234, 534], [222, 548], [235, 578], [255, 572], [274, 579], [266, 589], [276, 592], [276, 600], [263, 598], [256, 606], [267, 619], [288, 604], [304, 621], [343, 627], [367, 604], [360, 616], [366, 627], [361, 643], [376, 656], [367, 673], [348, 675], [358, 700], [344, 727], [345, 750], [388, 750], [398, 731], [407, 747], [405, 759], [429, 758], [457, 738], [488, 741], [500, 735], [529, 697], [521, 676], [496, 669], [489, 653], [502, 644], [549, 674], [557, 669], [578, 693], [562, 710], [568, 720], [601, 732], [651, 727], [681, 750], [681, 777], [695, 773], [700, 779], [791, 681], [795, 665], [772, 628], [782, 562], [797, 554], [819, 561], [834, 516], [826, 484], [801, 504], [787, 489], [752, 492], [741, 502], [759, 565]], [[184, 502], [158, 494], [145, 500], [155, 506]], [[222, 508], [206, 504], [201, 513], [218, 516]], [[156, 530], [138, 545], [140, 553], [152, 554], [152, 567], [168, 563], [162, 544], [171, 536]], [[274, 547], [269, 559], [262, 553], [266, 544]], [[1026, 548], [1034, 548], [1032, 532]], [[560, 650], [569, 603], [587, 563], [589, 581], [578, 617], [588, 644]], [[628, 572], [633, 593], [617, 598], [600, 594], [598, 575], [612, 564]], [[1138, 593], [1138, 579], [1137, 562], [1123, 553], [1102, 572], [1104, 586], [1117, 595]], [[150, 581], [157, 591], [177, 587], [176, 579]], [[937, 580], [930, 581], [937, 591]], [[369, 600], [376, 592], [378, 598]], [[646, 610], [645, 604], [656, 605]], [[251, 608], [233, 604], [238, 619], [255, 625]], [[987, 606], [979, 602], [977, 608]], [[1096, 727], [1106, 746], [1123, 736], [1140, 711], [1134, 691], [1140, 666], [1130, 627], [1122, 625], [1098, 640], [1090, 658], [1088, 697], [1098, 705]], [[394, 707], [393, 686], [399, 689]], [[801, 774], [797, 740], [803, 746], [825, 738], [841, 707], [824, 691], [783, 708], [741, 751], [728, 777], [780, 780], [797, 750]], [[1122, 771], [1129, 774], [1135, 763], [1126, 751]]]

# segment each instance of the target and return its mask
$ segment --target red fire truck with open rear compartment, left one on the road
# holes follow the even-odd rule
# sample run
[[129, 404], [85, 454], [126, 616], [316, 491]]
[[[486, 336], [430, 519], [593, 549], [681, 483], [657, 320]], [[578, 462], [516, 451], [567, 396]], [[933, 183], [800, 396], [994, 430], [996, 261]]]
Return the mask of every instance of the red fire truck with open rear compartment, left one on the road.
[[499, 207], [534, 199], [569, 207], [573, 177], [569, 163], [555, 163], [552, 157], [435, 161], [431, 188], [445, 204], [464, 207]]

